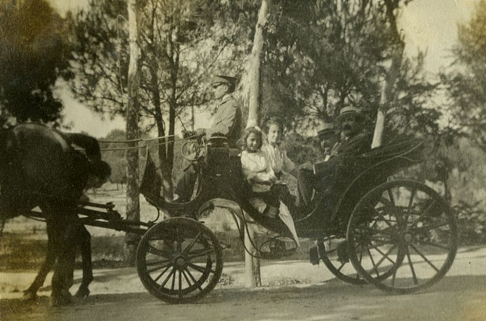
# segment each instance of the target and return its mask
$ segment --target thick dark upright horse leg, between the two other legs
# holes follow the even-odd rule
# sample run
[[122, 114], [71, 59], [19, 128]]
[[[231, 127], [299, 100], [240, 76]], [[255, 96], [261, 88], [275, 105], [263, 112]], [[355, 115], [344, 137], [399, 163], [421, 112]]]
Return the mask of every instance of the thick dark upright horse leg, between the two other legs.
[[[57, 265], [52, 276], [52, 305], [71, 303], [69, 287], [72, 285], [74, 259], [76, 254], [76, 234], [79, 229], [78, 217], [72, 210], [57, 208], [56, 233], [60, 236], [57, 247]], [[63, 213], [62, 217], [59, 213]]]

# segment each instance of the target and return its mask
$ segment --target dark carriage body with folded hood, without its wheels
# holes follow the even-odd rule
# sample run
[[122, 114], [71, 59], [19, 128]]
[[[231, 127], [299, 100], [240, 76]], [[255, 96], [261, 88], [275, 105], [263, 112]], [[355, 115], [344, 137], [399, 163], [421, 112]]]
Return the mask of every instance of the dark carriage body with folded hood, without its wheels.
[[[358, 201], [372, 188], [386, 182], [400, 169], [420, 161], [422, 142], [417, 140], [394, 144], [391, 148], [374, 150], [366, 155], [340, 158], [334, 173], [323, 179], [323, 189], [307, 208], [292, 209], [297, 234], [304, 238], [321, 238], [323, 233], [346, 233], [347, 222]], [[264, 228], [289, 236], [282, 221], [261, 215], [248, 202], [251, 188], [243, 178], [239, 149], [228, 147], [225, 138], [210, 140], [197, 157], [199, 186], [187, 203], [167, 201], [160, 197], [160, 175], [147, 155], [147, 164], [140, 185], [140, 193], [170, 217], [188, 216], [198, 219], [201, 207], [211, 199], [226, 199]]]

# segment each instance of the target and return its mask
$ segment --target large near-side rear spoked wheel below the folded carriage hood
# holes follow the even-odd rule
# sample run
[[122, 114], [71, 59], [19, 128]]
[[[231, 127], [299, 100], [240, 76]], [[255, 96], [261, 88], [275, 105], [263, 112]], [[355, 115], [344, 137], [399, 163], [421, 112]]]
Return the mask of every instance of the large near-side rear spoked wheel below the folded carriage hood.
[[356, 205], [347, 229], [351, 262], [379, 288], [409, 293], [440, 280], [457, 250], [456, 222], [433, 189], [384, 183]]

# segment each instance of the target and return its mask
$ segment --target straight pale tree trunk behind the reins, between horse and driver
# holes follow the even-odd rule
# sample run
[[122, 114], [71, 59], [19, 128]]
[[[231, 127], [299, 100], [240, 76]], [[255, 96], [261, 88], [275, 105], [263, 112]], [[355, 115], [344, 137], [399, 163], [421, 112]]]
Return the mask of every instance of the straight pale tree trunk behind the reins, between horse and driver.
[[[128, 41], [130, 46], [130, 62], [128, 65], [128, 104], [126, 111], [127, 140], [139, 137], [139, 30], [138, 30], [138, 1], [127, 0], [128, 8]], [[137, 143], [130, 143], [129, 147]], [[137, 148], [126, 151], [126, 217], [129, 220], [140, 220], [139, 204], [139, 150]], [[135, 264], [139, 235], [127, 233], [125, 237], [125, 261], [129, 265]]]

